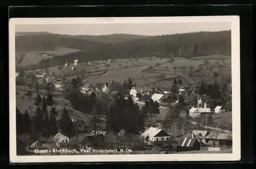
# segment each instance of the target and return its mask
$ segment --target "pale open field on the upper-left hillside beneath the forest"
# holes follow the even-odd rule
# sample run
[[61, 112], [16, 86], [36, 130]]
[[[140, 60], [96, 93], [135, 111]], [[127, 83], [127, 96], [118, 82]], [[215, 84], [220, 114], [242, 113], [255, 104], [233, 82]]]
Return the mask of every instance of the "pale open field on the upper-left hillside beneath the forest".
[[67, 47], [58, 47], [53, 51], [44, 51], [44, 52], [29, 52], [26, 53], [26, 56], [23, 58], [23, 60], [20, 62], [19, 66], [27, 66], [30, 64], [39, 63], [42, 59], [48, 59], [49, 57], [45, 57], [42, 54], [43, 53], [51, 53], [53, 54], [53, 57], [55, 56], [61, 56], [73, 52], [78, 52], [77, 49], [71, 49]]

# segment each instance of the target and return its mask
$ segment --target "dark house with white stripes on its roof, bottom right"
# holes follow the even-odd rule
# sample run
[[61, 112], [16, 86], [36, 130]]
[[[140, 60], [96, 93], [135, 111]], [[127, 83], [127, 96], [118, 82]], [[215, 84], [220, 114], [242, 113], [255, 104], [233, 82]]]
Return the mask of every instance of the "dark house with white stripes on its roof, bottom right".
[[188, 138], [182, 137], [180, 138], [177, 145], [177, 152], [185, 152], [185, 151], [195, 151], [200, 150], [200, 142], [197, 138]]

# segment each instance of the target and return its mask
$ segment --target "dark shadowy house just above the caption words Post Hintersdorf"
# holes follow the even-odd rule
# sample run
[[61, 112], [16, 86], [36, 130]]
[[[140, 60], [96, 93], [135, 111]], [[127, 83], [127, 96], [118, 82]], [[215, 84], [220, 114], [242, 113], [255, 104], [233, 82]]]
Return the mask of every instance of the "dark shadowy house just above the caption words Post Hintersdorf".
[[106, 139], [103, 134], [87, 135], [81, 142], [84, 147], [104, 148]]

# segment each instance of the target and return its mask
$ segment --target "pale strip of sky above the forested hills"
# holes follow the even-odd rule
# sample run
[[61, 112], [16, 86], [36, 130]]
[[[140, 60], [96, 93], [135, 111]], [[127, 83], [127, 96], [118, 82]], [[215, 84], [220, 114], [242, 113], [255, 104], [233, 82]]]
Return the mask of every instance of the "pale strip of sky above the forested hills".
[[225, 30], [231, 30], [231, 22], [15, 25], [15, 32], [49, 32], [68, 35], [135, 34], [154, 36]]

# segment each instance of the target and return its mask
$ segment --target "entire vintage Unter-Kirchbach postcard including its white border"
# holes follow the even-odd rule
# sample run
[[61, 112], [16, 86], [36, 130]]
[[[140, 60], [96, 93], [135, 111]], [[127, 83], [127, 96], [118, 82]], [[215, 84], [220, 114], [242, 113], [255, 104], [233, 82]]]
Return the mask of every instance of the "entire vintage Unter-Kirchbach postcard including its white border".
[[9, 26], [10, 162], [240, 160], [239, 16]]

